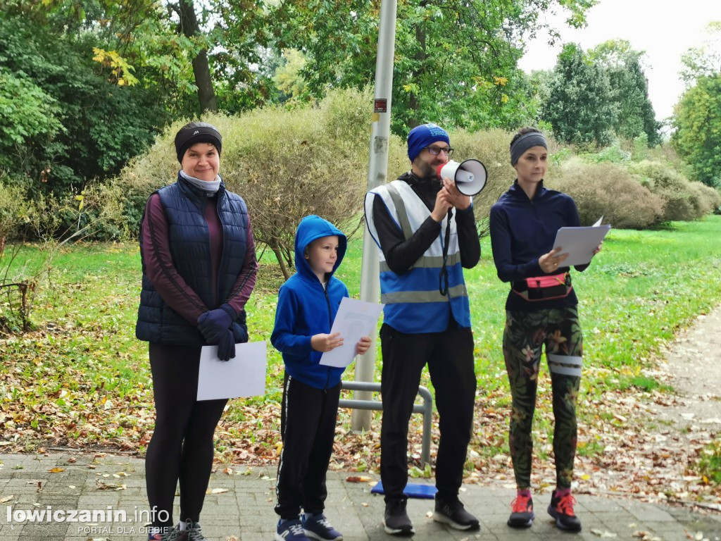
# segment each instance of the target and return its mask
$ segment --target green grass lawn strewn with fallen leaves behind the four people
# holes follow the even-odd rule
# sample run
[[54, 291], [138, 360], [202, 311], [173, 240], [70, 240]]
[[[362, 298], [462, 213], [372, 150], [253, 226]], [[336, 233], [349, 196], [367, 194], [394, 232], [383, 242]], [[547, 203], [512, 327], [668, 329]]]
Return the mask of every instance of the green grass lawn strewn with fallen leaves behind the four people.
[[[721, 216], [654, 231], [612, 229], [588, 270], [573, 274], [585, 336], [582, 423], [611, 423], [611, 413], [594, 407], [609, 392], [658, 387], [645, 369], [653, 368], [660, 346], [721, 302], [719, 239]], [[350, 242], [337, 273], [352, 296], [358, 296], [361, 251], [360, 239]], [[270, 251], [263, 255], [257, 289], [247, 305], [250, 340], [269, 340], [273, 328], [282, 282], [273, 257]], [[19, 268], [37, 267], [42, 258], [38, 247], [22, 247], [9, 276]], [[500, 348], [508, 285], [497, 279], [487, 238], [481, 263], [466, 271], [466, 283], [478, 378], [469, 461], [479, 467], [507, 452], [504, 427], [510, 403]], [[0, 442], [5, 447], [143, 452], [154, 412], [147, 345], [134, 335], [139, 290], [135, 243], [79, 244], [58, 253], [35, 297], [35, 329], [0, 336]], [[283, 364], [272, 347], [268, 353], [265, 397], [233, 400], [221, 422], [216, 448], [225, 459], [270, 461], [277, 456]], [[376, 380], [380, 370], [379, 354]], [[544, 396], [535, 426], [541, 440], [551, 423], [549, 379], [542, 372], [539, 392]], [[352, 368], [345, 379], [353, 379]], [[427, 374], [424, 384], [430, 387]], [[337, 462], [375, 465], [380, 424], [374, 421], [369, 435], [342, 437], [349, 420], [349, 413], [341, 412]], [[420, 419], [413, 424], [420, 426]], [[419, 440], [411, 440], [415, 456]], [[536, 448], [539, 457], [548, 453], [550, 441]], [[598, 447], [590, 441], [580, 445], [579, 454], [600, 452]]]

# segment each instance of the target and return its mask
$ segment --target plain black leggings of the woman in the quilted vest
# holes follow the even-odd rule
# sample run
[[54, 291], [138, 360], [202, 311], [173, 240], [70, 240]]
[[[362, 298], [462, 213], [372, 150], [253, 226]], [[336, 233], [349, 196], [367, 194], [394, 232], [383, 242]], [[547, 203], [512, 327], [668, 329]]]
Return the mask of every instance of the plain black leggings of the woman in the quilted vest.
[[203, 509], [213, 467], [213, 433], [228, 400], [195, 400], [199, 365], [200, 348], [150, 344], [156, 421], [145, 478], [155, 527], [174, 524], [179, 480], [180, 520], [199, 522]]

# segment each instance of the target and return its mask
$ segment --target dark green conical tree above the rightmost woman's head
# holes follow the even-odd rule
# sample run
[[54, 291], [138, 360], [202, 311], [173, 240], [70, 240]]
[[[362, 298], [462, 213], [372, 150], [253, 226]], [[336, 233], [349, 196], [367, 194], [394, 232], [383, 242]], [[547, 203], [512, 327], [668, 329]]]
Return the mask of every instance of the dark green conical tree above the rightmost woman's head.
[[606, 71], [575, 43], [558, 56], [541, 116], [559, 141], [605, 145], [614, 136], [616, 105]]

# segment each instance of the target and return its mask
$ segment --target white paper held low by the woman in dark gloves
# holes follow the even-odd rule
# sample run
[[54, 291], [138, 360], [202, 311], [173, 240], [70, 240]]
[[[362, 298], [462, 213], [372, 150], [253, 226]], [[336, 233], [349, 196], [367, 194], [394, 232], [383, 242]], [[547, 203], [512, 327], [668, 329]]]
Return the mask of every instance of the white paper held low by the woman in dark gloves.
[[235, 357], [218, 359], [218, 346], [203, 346], [198, 373], [198, 400], [265, 394], [265, 342], [235, 345]]

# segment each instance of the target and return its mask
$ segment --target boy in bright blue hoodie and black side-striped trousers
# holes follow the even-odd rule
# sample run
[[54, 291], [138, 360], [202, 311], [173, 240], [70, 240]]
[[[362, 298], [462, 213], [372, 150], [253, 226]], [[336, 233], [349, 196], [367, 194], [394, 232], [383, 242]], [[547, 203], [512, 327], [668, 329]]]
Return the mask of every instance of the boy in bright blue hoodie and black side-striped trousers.
[[[296, 273], [278, 291], [270, 342], [283, 354], [286, 375], [280, 431], [275, 512], [278, 541], [339, 541], [342, 535], [323, 514], [326, 472], [333, 450], [343, 368], [319, 364], [325, 351], [342, 346], [330, 334], [348, 288], [333, 276], [345, 255], [345, 235], [319, 216], [306, 216], [296, 231]], [[364, 336], [355, 351], [371, 346]], [[301, 519], [301, 508], [304, 515]]]

